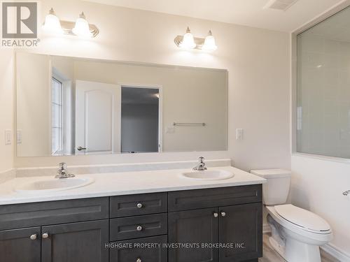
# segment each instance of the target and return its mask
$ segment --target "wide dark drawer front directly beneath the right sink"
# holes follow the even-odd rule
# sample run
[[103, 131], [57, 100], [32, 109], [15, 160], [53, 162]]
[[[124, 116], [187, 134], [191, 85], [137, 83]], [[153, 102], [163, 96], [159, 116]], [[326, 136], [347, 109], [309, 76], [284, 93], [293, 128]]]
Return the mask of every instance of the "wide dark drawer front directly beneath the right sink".
[[262, 201], [262, 185], [174, 191], [168, 194], [169, 212]]

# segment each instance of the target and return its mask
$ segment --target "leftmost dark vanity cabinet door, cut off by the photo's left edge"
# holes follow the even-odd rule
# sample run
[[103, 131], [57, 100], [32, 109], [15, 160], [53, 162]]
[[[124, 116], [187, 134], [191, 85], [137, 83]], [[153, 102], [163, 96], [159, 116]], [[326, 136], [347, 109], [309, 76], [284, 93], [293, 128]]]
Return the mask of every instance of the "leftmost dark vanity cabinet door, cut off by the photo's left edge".
[[40, 262], [40, 227], [0, 231], [0, 261]]

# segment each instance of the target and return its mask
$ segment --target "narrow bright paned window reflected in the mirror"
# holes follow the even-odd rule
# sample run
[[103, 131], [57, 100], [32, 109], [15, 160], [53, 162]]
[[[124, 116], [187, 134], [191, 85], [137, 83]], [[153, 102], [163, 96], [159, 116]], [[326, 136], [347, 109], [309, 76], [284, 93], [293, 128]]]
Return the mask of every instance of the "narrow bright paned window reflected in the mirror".
[[61, 154], [63, 150], [62, 128], [63, 85], [56, 78], [51, 79], [51, 154]]

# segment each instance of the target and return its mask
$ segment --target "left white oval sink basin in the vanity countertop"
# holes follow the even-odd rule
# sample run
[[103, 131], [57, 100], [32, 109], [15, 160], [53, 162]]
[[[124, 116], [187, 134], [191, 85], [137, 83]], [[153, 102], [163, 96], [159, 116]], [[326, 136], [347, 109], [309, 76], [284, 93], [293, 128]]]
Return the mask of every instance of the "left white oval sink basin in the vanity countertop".
[[18, 192], [46, 192], [46, 191], [62, 191], [85, 187], [94, 182], [90, 177], [71, 177], [71, 178], [51, 178], [48, 180], [38, 180], [22, 184], [15, 188]]

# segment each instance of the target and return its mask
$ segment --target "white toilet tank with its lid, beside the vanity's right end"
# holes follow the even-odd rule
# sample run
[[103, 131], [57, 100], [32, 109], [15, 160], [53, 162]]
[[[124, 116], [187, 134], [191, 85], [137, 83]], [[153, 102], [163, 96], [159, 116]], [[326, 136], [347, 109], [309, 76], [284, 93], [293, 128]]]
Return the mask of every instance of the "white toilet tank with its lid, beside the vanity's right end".
[[290, 188], [290, 170], [261, 169], [251, 170], [251, 173], [267, 180], [262, 184], [262, 200], [265, 205], [285, 204]]

